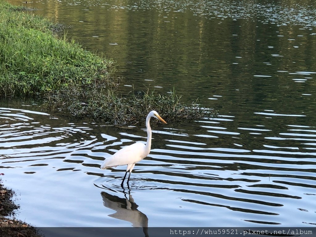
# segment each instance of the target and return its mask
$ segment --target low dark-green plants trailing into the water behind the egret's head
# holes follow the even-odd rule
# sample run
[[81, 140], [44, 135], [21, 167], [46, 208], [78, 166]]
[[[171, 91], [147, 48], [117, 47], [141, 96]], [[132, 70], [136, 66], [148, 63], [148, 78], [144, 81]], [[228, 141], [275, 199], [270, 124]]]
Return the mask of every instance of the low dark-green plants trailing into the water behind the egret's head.
[[187, 105], [180, 102], [174, 91], [161, 95], [152, 92], [130, 93], [127, 97], [119, 97], [113, 91], [102, 93], [97, 88], [90, 90], [73, 90], [71, 100], [63, 91], [50, 97], [49, 104], [63, 112], [68, 112], [77, 119], [90, 118], [114, 125], [137, 125], [146, 119], [151, 110], [156, 110], [168, 123], [183, 119], [198, 119], [217, 115], [216, 110], [202, 108], [197, 101]]

